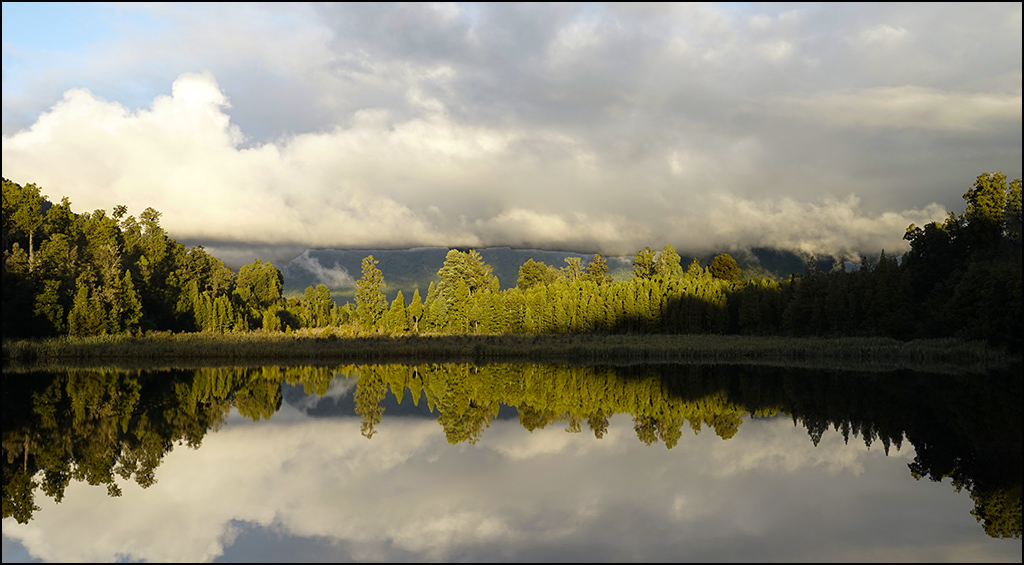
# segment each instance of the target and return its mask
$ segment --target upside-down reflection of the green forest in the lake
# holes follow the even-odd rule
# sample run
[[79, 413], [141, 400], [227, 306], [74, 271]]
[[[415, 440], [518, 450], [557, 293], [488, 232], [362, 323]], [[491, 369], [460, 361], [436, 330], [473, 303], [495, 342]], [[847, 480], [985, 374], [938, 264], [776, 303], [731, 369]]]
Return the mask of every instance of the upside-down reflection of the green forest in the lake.
[[[637, 440], [672, 449], [686, 433], [732, 438], [746, 419], [786, 418], [816, 446], [835, 430], [889, 453], [904, 442], [919, 480], [950, 479], [990, 536], [1021, 535], [1021, 405], [1016, 370], [887, 374], [736, 365], [539, 364], [63, 370], [4, 383], [3, 515], [28, 522], [37, 495], [59, 502], [72, 480], [120, 495], [146, 487], [175, 447], [198, 448], [232, 408], [270, 419], [283, 394], [325, 395], [348, 378], [348, 415], [372, 438], [388, 407], [429, 411], [452, 444], [475, 443], [508, 407], [523, 428], [600, 439], [615, 415]], [[354, 381], [354, 385], [352, 385]], [[283, 392], [285, 391], [285, 392]]]

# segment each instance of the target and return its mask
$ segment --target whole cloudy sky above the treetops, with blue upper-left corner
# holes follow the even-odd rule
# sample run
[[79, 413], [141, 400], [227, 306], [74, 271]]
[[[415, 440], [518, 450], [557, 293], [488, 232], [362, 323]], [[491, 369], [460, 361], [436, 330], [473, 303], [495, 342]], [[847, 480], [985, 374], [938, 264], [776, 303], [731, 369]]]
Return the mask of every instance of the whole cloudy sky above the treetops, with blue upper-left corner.
[[3, 3], [3, 176], [305, 249], [855, 258], [1021, 177], [1021, 3]]

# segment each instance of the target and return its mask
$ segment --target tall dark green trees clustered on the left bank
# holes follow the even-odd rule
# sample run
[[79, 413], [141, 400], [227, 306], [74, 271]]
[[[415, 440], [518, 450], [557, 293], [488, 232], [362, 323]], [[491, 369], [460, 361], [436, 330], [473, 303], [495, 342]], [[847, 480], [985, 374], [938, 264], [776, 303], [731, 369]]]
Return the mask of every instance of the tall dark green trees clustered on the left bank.
[[212, 324], [204, 303], [229, 295], [234, 274], [202, 248], [167, 236], [159, 212], [146, 209], [136, 220], [119, 206], [111, 216], [76, 215], [67, 198], [51, 205], [37, 202], [38, 192], [4, 180], [5, 337]]

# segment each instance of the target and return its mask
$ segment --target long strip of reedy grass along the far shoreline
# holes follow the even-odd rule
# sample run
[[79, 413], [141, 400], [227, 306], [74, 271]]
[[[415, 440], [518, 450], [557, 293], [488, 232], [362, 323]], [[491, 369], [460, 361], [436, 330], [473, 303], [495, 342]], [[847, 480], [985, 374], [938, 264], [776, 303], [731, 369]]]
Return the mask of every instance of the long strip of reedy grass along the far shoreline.
[[[4, 368], [33, 365], [296, 362], [705, 362], [845, 365], [984, 372], [1019, 364], [980, 342], [889, 338], [713, 335], [497, 335], [339, 337], [292, 334], [151, 334], [3, 342]], [[853, 365], [853, 366], [850, 366]], [[837, 366], [838, 367], [838, 366]]]

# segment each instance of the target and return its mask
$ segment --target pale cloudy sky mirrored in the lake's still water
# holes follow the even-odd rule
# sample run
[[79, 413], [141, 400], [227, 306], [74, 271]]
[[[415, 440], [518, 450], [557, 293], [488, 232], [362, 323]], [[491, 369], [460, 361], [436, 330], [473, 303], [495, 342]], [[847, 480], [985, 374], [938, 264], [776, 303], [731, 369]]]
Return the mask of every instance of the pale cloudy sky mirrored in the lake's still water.
[[[344, 381], [330, 393], [344, 395]], [[967, 492], [916, 481], [913, 448], [792, 420], [746, 420], [723, 440], [687, 431], [645, 445], [628, 416], [602, 439], [564, 424], [496, 420], [451, 445], [435, 420], [269, 422], [232, 414], [200, 449], [177, 446], [142, 489], [69, 485], [3, 521], [4, 562], [141, 561], [1015, 561]]]

